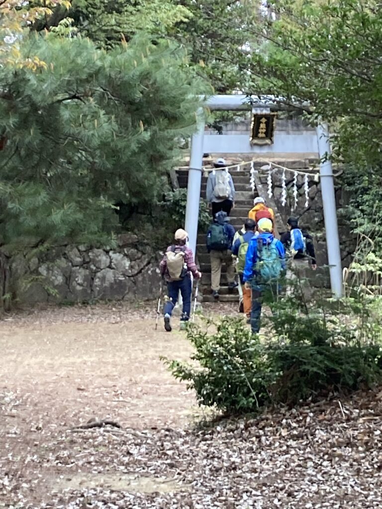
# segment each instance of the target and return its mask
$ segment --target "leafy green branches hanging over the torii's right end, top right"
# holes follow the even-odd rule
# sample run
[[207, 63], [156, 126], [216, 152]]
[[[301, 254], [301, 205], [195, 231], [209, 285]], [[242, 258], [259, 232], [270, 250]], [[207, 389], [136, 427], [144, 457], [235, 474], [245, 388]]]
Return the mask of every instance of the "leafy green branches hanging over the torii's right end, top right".
[[[382, 122], [379, 67], [382, 11], [369, 0], [275, 2], [266, 51], [254, 52], [254, 90], [309, 101], [313, 117], [332, 124], [335, 155], [378, 163]], [[264, 27], [263, 27], [264, 28]], [[255, 32], [260, 36], [260, 30]]]

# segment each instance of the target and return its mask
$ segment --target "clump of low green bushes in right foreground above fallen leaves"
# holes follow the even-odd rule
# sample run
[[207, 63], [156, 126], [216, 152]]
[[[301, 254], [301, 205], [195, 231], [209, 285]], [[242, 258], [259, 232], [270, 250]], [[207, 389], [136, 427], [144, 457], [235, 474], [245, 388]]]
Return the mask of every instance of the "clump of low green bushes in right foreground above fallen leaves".
[[286, 298], [272, 311], [263, 341], [231, 317], [212, 324], [211, 334], [190, 326], [198, 365], [166, 360], [173, 376], [195, 389], [199, 404], [230, 413], [382, 382], [382, 317], [373, 301], [359, 296], [310, 310]]

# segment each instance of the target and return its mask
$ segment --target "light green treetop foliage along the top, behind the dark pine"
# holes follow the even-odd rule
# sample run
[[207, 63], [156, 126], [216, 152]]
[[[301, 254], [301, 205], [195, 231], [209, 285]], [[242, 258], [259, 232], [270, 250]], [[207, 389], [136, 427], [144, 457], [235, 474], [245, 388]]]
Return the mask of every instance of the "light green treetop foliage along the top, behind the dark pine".
[[51, 30], [65, 17], [73, 19], [80, 35], [102, 48], [113, 48], [140, 32], [176, 41], [187, 49], [195, 72], [207, 76], [216, 92], [246, 89], [254, 39], [249, 29], [259, 17], [253, 0], [73, 0], [69, 11], [58, 8], [34, 28]]

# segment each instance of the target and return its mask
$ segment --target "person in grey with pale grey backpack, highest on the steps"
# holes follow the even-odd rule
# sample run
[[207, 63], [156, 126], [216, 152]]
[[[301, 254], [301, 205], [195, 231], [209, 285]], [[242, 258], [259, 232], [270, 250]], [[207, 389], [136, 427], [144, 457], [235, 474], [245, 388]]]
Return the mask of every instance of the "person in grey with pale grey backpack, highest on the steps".
[[235, 186], [231, 175], [226, 168], [227, 164], [222, 157], [214, 163], [214, 170], [208, 175], [206, 199], [212, 206], [212, 217], [217, 212], [224, 211], [230, 215], [234, 206]]

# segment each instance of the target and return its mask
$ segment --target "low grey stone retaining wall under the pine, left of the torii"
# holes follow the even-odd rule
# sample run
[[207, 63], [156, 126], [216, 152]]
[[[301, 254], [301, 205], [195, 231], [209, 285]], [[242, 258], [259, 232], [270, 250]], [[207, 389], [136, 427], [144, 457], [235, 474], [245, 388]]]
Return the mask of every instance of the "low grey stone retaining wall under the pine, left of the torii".
[[20, 303], [144, 300], [159, 291], [159, 253], [134, 235], [121, 235], [114, 249], [60, 245], [32, 252], [39, 250], [6, 252], [10, 293]]

